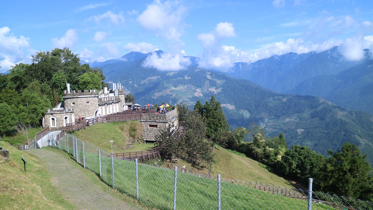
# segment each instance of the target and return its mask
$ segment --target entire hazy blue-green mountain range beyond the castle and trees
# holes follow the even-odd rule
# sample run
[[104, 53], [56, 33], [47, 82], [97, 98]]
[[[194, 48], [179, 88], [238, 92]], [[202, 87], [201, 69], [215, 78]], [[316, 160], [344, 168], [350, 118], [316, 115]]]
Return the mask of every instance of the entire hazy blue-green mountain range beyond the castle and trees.
[[[336, 151], [349, 141], [356, 143], [373, 163], [372, 115], [342, 108], [350, 99], [338, 98], [351, 93], [351, 100], [364, 99], [367, 101], [360, 102], [372, 106], [372, 60], [368, 58], [345, 61], [338, 47], [333, 47], [320, 53], [287, 53], [252, 64], [236, 63], [223, 74], [198, 68], [196, 57], [189, 57], [192, 62], [185, 70], [145, 68], [142, 64], [148, 55], [131, 52], [89, 64], [102, 68], [107, 81], [119, 80], [139, 104], [175, 105], [182, 101], [192, 108], [198, 100], [204, 103], [214, 95], [231, 128], [255, 122], [268, 135], [283, 132], [289, 146], [306, 145], [324, 155], [328, 149]], [[326, 99], [317, 95], [321, 93]], [[334, 97], [334, 101], [326, 96]]]

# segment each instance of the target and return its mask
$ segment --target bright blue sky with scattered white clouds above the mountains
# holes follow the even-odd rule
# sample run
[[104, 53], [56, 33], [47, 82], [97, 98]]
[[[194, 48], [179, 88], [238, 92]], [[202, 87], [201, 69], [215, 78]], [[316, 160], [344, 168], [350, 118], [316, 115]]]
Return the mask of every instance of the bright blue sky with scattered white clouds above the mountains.
[[88, 62], [160, 49], [144, 66], [229, 71], [288, 52], [341, 46], [346, 59], [373, 50], [373, 0], [3, 1], [0, 72], [37, 51], [69, 47]]

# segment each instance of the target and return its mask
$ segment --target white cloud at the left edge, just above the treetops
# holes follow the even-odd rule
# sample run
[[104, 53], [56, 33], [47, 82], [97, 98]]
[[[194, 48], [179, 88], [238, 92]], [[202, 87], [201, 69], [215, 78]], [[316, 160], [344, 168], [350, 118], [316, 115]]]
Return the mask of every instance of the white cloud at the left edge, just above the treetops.
[[9, 27], [0, 28], [0, 72], [6, 72], [20, 62], [30, 61], [29, 55], [24, 53], [24, 48], [30, 47], [30, 38], [22, 35], [18, 38], [9, 32]]

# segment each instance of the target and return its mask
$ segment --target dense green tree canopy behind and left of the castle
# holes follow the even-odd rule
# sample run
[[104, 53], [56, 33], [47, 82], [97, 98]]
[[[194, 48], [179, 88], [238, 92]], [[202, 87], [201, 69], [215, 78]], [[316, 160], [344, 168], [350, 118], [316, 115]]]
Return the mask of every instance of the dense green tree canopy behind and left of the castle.
[[[78, 54], [68, 48], [37, 52], [31, 64], [16, 64], [8, 74], [0, 74], [0, 103], [7, 111], [4, 117], [14, 119], [30, 126], [39, 126], [40, 120], [48, 108], [63, 100], [66, 83], [72, 90], [101, 89], [107, 87], [105, 76], [100, 68], [90, 68], [80, 64]], [[4, 126], [3, 135], [15, 127], [17, 121]], [[5, 123], [8, 125], [8, 123]], [[5, 128], [6, 127], [6, 128]], [[10, 129], [10, 130], [9, 130]]]

